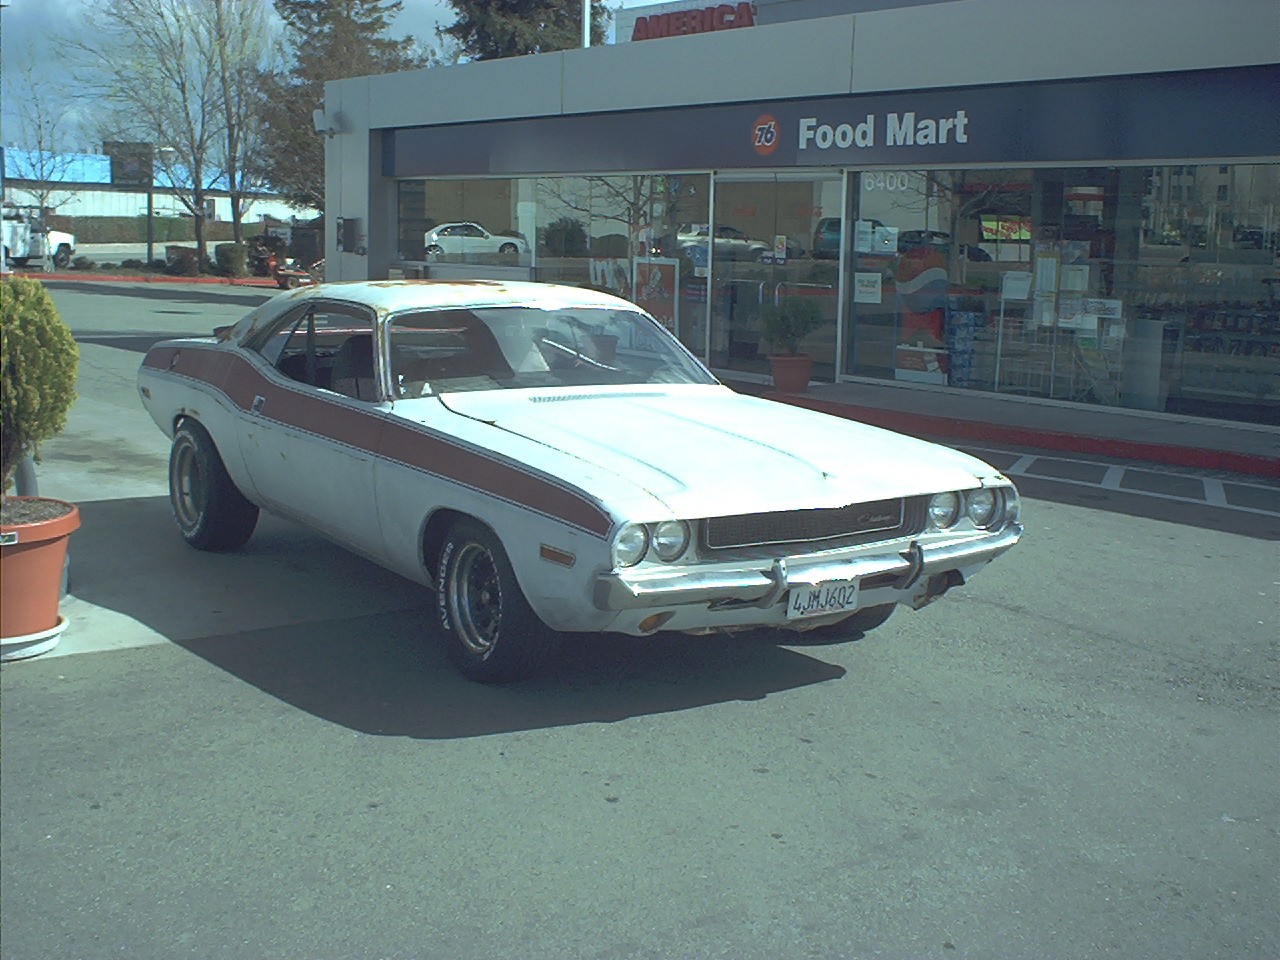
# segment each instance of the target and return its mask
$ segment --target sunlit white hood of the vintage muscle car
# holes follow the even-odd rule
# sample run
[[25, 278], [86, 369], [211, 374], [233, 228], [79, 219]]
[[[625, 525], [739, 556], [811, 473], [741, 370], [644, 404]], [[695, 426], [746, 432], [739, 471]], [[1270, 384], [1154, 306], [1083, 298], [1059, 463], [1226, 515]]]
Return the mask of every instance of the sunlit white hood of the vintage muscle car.
[[[643, 509], [648, 498], [689, 518], [842, 507], [966, 489], [997, 475], [946, 447], [721, 385], [440, 399], [454, 413], [549, 448], [547, 467], [625, 511]], [[550, 451], [580, 468], [557, 463]]]

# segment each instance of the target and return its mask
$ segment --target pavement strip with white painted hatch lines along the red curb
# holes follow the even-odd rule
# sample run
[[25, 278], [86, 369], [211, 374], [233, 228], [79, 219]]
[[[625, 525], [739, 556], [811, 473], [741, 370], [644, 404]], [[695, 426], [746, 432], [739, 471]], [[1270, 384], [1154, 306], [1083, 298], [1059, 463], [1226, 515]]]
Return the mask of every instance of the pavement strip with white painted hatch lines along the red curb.
[[1044, 453], [956, 444], [1011, 477], [1036, 477], [1075, 486], [1155, 497], [1164, 500], [1225, 507], [1243, 513], [1280, 517], [1280, 486], [1236, 475], [1204, 476], [1202, 471], [1152, 463], [1103, 463]]

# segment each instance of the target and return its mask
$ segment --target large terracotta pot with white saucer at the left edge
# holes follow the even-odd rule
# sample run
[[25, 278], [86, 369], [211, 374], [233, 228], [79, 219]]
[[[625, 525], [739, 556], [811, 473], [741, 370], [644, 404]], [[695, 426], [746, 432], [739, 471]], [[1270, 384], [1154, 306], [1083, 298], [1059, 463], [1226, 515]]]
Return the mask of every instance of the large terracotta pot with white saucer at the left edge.
[[47, 497], [9, 499], [47, 503], [64, 512], [29, 524], [0, 524], [0, 660], [35, 657], [58, 645], [67, 627], [58, 614], [67, 538], [79, 527], [74, 503]]

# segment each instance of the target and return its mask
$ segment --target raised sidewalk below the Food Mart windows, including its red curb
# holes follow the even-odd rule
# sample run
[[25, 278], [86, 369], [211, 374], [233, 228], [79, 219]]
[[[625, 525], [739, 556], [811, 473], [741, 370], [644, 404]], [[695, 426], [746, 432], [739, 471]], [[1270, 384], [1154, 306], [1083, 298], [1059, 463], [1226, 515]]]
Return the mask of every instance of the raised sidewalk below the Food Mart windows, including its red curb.
[[1280, 426], [891, 381], [812, 383], [808, 393], [722, 379], [742, 393], [900, 433], [1280, 479]]

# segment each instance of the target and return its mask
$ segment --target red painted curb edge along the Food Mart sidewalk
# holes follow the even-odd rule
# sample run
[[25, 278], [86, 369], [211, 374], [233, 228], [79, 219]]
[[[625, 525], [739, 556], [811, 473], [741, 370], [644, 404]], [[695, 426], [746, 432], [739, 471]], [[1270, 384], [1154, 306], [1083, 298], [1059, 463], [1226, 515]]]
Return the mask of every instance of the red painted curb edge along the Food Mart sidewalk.
[[1170, 463], [1181, 467], [1228, 470], [1235, 474], [1280, 477], [1280, 460], [1252, 453], [1174, 447], [1171, 444], [1108, 439], [1105, 436], [1060, 434], [1052, 430], [1037, 430], [1025, 426], [986, 424], [928, 413], [908, 413], [900, 410], [879, 410], [877, 407], [833, 403], [831, 401], [814, 399], [813, 397], [786, 397], [776, 393], [765, 394], [765, 397], [767, 399], [817, 410], [832, 416], [845, 417], [846, 420], [858, 420], [873, 426], [883, 426], [887, 430], [896, 430], [897, 433], [1011, 443], [1018, 447], [1034, 447], [1037, 449], [1089, 453], [1119, 460], [1146, 460], [1155, 463]]

